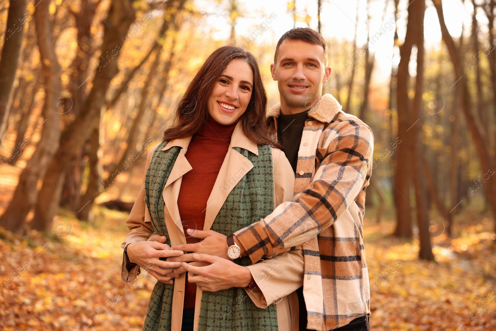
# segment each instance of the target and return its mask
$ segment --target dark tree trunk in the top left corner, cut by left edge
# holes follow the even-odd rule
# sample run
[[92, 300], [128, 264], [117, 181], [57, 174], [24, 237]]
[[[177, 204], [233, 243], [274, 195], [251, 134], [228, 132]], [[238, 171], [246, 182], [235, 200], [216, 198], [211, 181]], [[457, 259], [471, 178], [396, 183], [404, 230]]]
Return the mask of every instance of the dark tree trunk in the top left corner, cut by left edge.
[[0, 60], [0, 145], [7, 130], [9, 106], [15, 73], [19, 66], [24, 23], [26, 22], [26, 0], [10, 0], [7, 25]]

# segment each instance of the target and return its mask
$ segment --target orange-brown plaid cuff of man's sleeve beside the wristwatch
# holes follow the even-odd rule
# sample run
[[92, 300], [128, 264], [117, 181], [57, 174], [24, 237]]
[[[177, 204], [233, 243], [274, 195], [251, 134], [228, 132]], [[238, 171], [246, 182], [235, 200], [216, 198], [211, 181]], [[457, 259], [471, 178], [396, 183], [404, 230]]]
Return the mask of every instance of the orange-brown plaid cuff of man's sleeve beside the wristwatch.
[[236, 231], [234, 235], [245, 248], [252, 264], [263, 257], [272, 257], [272, 243], [263, 225], [263, 219]]

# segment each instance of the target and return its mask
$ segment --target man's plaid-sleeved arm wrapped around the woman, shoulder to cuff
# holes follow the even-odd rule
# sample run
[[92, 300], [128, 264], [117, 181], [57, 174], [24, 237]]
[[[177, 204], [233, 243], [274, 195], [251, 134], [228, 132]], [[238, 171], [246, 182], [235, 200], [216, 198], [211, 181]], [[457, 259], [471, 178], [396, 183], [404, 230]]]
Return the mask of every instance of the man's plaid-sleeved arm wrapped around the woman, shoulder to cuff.
[[293, 201], [280, 204], [264, 219], [235, 233], [236, 243], [252, 263], [316, 236], [332, 225], [368, 185], [372, 172], [372, 131], [353, 120], [339, 123], [336, 130], [327, 149], [317, 150], [317, 156], [320, 153], [323, 159], [308, 188]]

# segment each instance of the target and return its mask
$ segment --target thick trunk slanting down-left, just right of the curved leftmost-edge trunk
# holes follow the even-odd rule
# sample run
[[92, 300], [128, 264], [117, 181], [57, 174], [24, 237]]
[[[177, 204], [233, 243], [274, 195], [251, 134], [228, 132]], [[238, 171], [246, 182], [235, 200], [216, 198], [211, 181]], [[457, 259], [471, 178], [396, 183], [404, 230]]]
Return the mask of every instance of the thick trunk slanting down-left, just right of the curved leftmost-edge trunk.
[[135, 12], [129, 0], [112, 1], [104, 24], [102, 56], [93, 78], [93, 87], [81, 106], [78, 118], [62, 133], [60, 147], [43, 179], [39, 204], [33, 218], [33, 222], [40, 224], [40, 227], [48, 227], [52, 222], [60, 204], [64, 169], [91, 134], [88, 128], [94, 128], [98, 124], [110, 81], [119, 71], [118, 60], [123, 48], [122, 43], [125, 42], [127, 31], [134, 19]]

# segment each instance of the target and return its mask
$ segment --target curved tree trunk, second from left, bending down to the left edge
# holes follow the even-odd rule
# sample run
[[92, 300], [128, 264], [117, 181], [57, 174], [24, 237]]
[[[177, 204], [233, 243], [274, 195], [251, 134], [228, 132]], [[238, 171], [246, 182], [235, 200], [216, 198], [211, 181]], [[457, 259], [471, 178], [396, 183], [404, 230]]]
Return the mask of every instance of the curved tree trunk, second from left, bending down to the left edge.
[[[45, 116], [43, 132], [35, 152], [19, 177], [14, 197], [0, 218], [1, 226], [15, 232], [21, 232], [27, 213], [37, 203], [38, 191], [36, 186], [38, 180], [45, 175], [50, 161], [59, 147], [59, 113], [57, 109], [54, 109], [57, 106], [57, 102], [54, 104], [54, 100], [57, 100], [60, 93], [61, 68], [57, 61], [55, 45], [52, 39], [49, 5], [49, 1], [39, 2], [34, 13], [46, 86], [43, 104], [43, 114]], [[44, 226], [39, 226], [40, 224], [37, 223], [32, 223], [32, 225], [35, 229], [46, 231], [50, 229], [51, 222], [44, 224]]]

